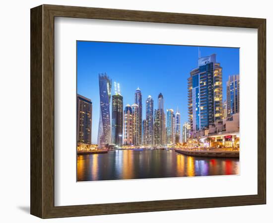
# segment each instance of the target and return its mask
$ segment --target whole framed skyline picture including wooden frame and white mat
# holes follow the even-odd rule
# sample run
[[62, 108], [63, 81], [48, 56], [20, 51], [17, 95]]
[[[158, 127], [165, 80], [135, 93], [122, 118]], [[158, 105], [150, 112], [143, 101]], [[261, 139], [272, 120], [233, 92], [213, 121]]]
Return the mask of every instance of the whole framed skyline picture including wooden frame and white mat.
[[256, 204], [266, 19], [31, 9], [32, 215]]

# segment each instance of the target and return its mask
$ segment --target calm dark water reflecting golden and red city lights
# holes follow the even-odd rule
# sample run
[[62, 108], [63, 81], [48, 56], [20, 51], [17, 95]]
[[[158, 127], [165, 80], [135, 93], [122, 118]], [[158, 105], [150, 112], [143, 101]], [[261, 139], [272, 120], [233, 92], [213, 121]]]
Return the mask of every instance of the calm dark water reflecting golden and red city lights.
[[77, 180], [239, 174], [239, 159], [204, 158], [173, 150], [116, 150], [77, 156]]

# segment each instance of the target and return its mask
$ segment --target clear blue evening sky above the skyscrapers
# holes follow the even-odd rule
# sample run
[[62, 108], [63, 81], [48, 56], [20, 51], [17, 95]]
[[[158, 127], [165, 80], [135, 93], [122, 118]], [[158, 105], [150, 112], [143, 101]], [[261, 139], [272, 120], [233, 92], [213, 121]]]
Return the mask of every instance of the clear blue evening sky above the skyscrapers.
[[[200, 47], [200, 51], [201, 56], [216, 54], [216, 61], [223, 68], [223, 99], [226, 99], [228, 75], [239, 74], [239, 49]], [[135, 90], [140, 88], [143, 119], [148, 95], [157, 109], [161, 92], [165, 111], [176, 111], [178, 107], [182, 128], [188, 121], [187, 78], [197, 66], [198, 47], [194, 46], [77, 41], [77, 93], [92, 101], [92, 143], [97, 143], [98, 134], [99, 73], [107, 73], [112, 79], [112, 94], [114, 81], [120, 83], [124, 107], [134, 104]]]

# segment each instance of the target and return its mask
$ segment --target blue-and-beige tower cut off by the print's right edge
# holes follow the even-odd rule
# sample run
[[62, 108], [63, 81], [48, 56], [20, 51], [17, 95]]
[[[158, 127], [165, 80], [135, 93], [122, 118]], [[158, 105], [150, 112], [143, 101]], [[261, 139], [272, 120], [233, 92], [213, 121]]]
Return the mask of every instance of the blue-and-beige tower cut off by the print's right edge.
[[226, 82], [227, 117], [240, 111], [240, 78], [239, 75], [228, 76]]

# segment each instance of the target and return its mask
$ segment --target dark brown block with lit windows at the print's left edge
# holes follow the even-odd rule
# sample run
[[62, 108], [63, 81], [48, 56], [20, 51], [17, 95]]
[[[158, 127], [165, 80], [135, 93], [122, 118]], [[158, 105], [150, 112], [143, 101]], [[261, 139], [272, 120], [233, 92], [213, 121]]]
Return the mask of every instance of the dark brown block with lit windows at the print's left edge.
[[91, 144], [92, 102], [77, 95], [77, 142]]

